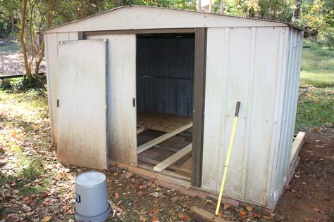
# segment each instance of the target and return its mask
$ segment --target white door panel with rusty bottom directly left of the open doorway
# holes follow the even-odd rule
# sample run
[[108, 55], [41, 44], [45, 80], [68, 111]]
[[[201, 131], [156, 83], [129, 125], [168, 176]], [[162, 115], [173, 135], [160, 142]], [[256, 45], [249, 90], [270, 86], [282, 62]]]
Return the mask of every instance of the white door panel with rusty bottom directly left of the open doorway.
[[108, 39], [108, 136], [109, 155], [115, 162], [137, 165], [136, 36], [115, 34], [88, 36]]

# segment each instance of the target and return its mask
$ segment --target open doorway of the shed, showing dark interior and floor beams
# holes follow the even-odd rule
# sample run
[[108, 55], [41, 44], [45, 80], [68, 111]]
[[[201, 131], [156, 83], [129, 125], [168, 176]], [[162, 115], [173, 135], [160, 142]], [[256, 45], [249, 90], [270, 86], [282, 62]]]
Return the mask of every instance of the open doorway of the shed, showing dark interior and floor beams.
[[194, 33], [137, 34], [138, 166], [191, 180]]

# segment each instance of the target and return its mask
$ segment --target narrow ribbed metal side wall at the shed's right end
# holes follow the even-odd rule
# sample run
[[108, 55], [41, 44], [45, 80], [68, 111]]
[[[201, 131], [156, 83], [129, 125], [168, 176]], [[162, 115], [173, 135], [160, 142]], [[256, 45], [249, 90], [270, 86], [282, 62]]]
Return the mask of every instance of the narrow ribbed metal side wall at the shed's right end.
[[287, 76], [283, 88], [284, 104], [282, 126], [280, 130], [280, 143], [278, 155], [276, 159], [276, 168], [273, 171], [271, 181], [271, 189], [269, 195], [272, 194], [273, 202], [278, 200], [280, 191], [287, 179], [287, 174], [290, 171], [290, 157], [292, 152], [292, 138], [295, 131], [295, 120], [297, 113], [298, 91], [299, 91], [299, 76], [302, 60], [302, 41], [303, 33], [289, 28], [289, 56], [287, 58]]

